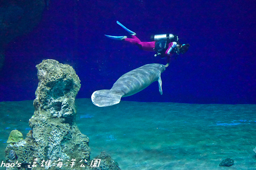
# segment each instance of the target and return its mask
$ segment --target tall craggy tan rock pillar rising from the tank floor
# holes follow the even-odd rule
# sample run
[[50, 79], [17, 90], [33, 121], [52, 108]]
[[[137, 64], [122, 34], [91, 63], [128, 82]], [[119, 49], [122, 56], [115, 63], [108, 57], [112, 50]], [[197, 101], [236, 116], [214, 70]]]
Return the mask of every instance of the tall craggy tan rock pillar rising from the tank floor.
[[[29, 119], [32, 130], [26, 139], [6, 147], [6, 170], [91, 170], [89, 138], [75, 123], [79, 77], [71, 66], [52, 59], [36, 67], [39, 83]], [[101, 165], [109, 166], [104, 165], [108, 162], [102, 160]], [[113, 170], [120, 168], [116, 164]]]

